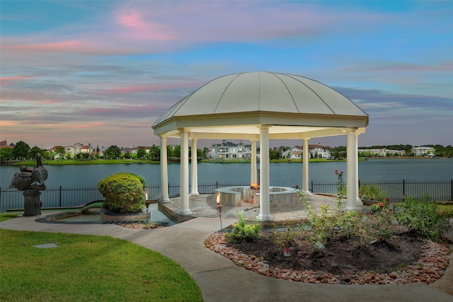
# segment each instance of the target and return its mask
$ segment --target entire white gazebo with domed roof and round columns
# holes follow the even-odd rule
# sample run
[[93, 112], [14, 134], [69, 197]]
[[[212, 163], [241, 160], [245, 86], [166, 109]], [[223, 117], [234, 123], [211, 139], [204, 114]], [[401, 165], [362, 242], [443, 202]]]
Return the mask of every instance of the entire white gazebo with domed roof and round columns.
[[291, 74], [247, 72], [221, 76], [168, 109], [153, 124], [161, 139], [161, 202], [168, 202], [167, 138], [180, 138], [180, 209], [190, 215], [189, 196], [198, 194], [197, 161], [192, 161], [189, 193], [189, 139], [197, 158], [197, 139], [250, 140], [251, 183], [256, 182], [256, 142], [260, 141], [260, 221], [272, 221], [269, 192], [269, 140], [303, 141], [302, 190], [309, 194], [309, 139], [347, 135], [346, 209], [358, 199], [357, 136], [368, 115], [323, 83]]

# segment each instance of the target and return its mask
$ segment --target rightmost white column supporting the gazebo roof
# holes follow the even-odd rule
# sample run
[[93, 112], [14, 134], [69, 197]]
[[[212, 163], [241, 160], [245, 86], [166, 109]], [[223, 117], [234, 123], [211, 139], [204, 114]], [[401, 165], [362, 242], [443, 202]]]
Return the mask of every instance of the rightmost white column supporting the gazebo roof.
[[357, 173], [357, 146], [355, 140], [355, 129], [348, 129], [348, 146], [347, 146], [347, 166], [346, 166], [346, 190], [348, 191], [348, 202], [346, 210], [355, 210], [356, 202], [356, 173]]

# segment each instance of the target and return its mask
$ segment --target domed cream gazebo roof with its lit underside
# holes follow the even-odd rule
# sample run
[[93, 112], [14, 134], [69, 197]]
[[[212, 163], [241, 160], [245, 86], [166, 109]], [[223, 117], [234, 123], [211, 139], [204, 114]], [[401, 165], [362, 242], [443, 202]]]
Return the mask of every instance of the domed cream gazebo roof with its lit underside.
[[197, 139], [303, 139], [362, 128], [368, 115], [355, 103], [317, 81], [289, 74], [249, 72], [214, 79], [168, 109], [153, 124], [156, 135]]

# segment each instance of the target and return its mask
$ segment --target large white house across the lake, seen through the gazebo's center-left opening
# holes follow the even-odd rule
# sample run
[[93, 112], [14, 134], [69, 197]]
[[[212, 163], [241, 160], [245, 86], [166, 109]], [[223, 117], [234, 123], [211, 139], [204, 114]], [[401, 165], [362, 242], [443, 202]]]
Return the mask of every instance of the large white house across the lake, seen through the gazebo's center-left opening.
[[[245, 158], [252, 157], [252, 146], [243, 144], [235, 144], [231, 141], [223, 140], [222, 144], [212, 144], [210, 151], [206, 154], [207, 158]], [[256, 158], [260, 158], [260, 150], [256, 148]]]

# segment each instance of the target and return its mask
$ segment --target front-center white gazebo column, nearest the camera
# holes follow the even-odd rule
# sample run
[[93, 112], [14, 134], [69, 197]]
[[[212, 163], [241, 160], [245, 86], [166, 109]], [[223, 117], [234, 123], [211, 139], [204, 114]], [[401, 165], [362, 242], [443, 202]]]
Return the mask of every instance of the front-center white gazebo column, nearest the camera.
[[260, 214], [258, 220], [273, 221], [270, 214], [269, 126], [260, 126]]

